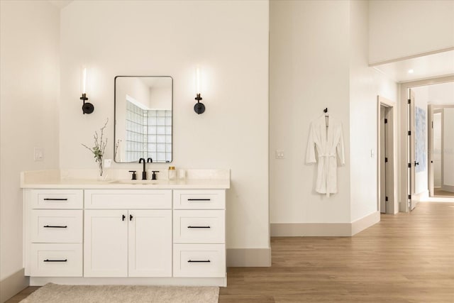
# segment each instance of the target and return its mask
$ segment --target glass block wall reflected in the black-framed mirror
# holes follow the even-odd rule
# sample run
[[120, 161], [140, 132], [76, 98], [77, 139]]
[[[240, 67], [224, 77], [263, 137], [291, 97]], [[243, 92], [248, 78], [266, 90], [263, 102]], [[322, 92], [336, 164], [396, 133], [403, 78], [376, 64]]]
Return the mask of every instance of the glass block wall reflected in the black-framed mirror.
[[144, 110], [126, 101], [125, 160], [140, 158], [172, 161], [172, 111]]

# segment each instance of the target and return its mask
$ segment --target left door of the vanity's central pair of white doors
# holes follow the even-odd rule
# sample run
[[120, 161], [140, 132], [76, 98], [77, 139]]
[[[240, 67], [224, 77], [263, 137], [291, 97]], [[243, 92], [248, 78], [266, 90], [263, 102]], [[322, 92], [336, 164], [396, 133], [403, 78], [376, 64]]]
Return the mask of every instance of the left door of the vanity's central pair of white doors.
[[84, 214], [84, 277], [127, 277], [128, 211]]

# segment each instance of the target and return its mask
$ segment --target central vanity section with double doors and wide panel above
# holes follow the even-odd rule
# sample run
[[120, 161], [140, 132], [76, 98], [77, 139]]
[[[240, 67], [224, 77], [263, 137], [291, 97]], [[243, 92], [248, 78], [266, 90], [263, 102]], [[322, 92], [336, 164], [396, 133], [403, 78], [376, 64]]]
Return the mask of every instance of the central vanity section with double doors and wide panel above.
[[171, 190], [85, 190], [85, 198], [84, 277], [172, 276]]

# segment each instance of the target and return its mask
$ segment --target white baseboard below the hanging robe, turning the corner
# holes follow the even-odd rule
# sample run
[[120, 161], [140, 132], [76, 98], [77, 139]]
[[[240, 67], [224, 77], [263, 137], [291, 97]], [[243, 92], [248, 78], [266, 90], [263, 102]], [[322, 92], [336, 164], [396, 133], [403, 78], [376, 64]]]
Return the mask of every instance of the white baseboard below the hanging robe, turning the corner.
[[272, 223], [272, 237], [350, 237], [380, 222], [375, 211], [351, 223]]

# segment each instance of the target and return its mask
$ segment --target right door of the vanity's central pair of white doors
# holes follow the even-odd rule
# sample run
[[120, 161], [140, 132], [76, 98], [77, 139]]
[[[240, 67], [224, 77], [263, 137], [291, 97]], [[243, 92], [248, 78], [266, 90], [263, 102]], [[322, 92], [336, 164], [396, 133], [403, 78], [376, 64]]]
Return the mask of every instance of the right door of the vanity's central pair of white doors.
[[129, 210], [129, 277], [172, 277], [172, 211]]

